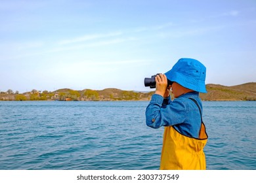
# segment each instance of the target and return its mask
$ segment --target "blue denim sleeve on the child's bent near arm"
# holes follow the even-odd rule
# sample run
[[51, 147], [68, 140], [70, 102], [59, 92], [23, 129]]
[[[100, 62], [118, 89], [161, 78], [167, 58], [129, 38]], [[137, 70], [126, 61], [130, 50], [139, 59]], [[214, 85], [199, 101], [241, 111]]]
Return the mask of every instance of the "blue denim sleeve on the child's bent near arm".
[[186, 120], [188, 108], [184, 102], [179, 99], [169, 100], [167, 105], [167, 101], [164, 102], [161, 95], [152, 95], [152, 99], [146, 108], [146, 125], [152, 128], [159, 128], [161, 126], [181, 124]]

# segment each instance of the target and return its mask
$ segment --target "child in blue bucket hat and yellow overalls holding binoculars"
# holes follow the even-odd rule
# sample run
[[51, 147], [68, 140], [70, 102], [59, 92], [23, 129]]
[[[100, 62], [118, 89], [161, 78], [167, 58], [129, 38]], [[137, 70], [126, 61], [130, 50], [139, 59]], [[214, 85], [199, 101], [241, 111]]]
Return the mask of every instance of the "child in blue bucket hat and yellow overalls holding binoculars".
[[[146, 108], [146, 125], [165, 126], [160, 169], [206, 169], [203, 148], [208, 137], [199, 97], [199, 92], [206, 93], [205, 74], [200, 61], [182, 58], [155, 78], [156, 92]], [[167, 80], [172, 84], [167, 86]]]

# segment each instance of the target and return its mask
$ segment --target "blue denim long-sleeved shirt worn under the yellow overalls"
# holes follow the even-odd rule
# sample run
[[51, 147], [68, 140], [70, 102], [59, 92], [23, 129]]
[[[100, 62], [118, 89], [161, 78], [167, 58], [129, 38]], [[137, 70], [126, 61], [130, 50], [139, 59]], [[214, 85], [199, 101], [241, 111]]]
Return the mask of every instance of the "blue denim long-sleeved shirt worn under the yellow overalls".
[[146, 108], [146, 125], [152, 128], [172, 125], [182, 135], [198, 138], [201, 127], [200, 110], [188, 98], [195, 99], [203, 112], [198, 92], [185, 93], [173, 101], [171, 97], [163, 99], [161, 95], [152, 95]]

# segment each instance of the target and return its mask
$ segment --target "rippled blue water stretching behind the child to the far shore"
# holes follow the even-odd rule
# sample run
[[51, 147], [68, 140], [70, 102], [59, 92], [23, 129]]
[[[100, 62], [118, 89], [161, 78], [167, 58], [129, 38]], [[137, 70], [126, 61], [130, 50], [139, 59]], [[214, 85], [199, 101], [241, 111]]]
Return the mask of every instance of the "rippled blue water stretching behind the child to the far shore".
[[[0, 169], [159, 169], [148, 101], [1, 101]], [[203, 102], [207, 169], [256, 169], [256, 102]]]

